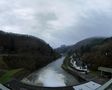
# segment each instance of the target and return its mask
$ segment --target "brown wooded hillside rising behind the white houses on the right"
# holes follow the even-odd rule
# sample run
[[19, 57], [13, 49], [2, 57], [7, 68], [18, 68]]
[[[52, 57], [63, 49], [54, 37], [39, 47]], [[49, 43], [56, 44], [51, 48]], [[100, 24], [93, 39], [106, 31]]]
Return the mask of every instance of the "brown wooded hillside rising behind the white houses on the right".
[[65, 60], [74, 55], [93, 70], [97, 70], [98, 66], [112, 67], [112, 38], [82, 40], [72, 46]]

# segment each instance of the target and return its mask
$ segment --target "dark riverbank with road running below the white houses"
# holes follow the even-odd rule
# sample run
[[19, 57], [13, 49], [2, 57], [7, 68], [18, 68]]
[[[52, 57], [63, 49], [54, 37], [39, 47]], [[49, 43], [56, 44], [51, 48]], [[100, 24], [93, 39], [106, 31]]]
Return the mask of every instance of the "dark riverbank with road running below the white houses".
[[108, 78], [103, 78], [99, 76], [99, 73], [97, 71], [95, 72], [90, 71], [88, 74], [81, 73], [80, 71], [77, 71], [76, 69], [70, 66], [69, 60], [64, 60], [64, 63], [62, 64], [62, 68], [68, 73], [71, 73], [73, 76], [77, 77], [81, 83], [94, 81], [103, 85], [105, 82], [109, 80]]

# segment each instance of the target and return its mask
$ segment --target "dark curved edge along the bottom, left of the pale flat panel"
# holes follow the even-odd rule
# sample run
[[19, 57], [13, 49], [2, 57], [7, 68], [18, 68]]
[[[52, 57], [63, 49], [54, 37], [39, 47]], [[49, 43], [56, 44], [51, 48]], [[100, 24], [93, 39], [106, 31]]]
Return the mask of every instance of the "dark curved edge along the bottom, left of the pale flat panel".
[[13, 79], [5, 84], [10, 90], [74, 90], [73, 86], [68, 87], [39, 87], [39, 86], [33, 86], [24, 84], [22, 82], [19, 82], [16, 79]]

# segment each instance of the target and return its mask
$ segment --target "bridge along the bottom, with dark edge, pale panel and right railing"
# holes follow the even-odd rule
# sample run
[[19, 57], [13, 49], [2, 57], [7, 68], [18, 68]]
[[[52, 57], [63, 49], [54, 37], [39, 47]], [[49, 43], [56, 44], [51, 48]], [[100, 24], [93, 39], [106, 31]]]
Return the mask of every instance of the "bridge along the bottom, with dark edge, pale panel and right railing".
[[66, 87], [40, 87], [40, 86], [32, 86], [28, 84], [24, 84], [22, 82], [13, 79], [6, 83], [7, 90], [105, 90], [109, 88], [112, 89], [112, 79], [110, 79], [104, 85], [97, 84], [93, 81], [77, 85], [77, 86], [66, 86]]

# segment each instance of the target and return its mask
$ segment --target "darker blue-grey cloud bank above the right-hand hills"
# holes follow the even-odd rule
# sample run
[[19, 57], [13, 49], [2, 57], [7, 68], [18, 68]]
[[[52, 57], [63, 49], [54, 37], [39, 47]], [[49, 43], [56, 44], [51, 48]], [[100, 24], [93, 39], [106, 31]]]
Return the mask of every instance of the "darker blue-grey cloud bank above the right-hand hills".
[[[110, 12], [112, 13], [112, 12]], [[60, 33], [53, 34], [65, 44], [74, 44], [79, 40], [95, 36], [112, 36], [112, 17], [107, 13], [91, 11], [88, 17], [80, 17], [77, 26], [67, 27]], [[65, 31], [65, 32], [63, 32]]]

